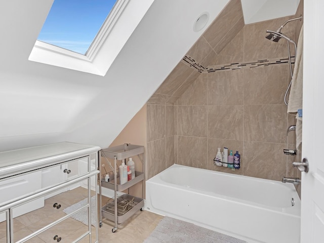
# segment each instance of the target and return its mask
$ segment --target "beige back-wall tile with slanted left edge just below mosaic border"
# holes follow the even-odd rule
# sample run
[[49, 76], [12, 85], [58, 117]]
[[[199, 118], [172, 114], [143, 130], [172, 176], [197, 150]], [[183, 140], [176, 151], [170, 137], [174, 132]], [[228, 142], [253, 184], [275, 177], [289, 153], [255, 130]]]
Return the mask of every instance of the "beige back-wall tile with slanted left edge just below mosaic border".
[[207, 73], [194, 80], [178, 99], [178, 105], [207, 105]]

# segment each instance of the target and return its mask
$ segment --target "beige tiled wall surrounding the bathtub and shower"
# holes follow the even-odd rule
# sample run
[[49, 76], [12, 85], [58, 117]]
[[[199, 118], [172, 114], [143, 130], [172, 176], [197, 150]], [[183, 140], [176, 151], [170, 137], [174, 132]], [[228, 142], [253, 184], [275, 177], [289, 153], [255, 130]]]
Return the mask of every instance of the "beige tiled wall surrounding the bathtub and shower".
[[[302, 10], [303, 1], [296, 16]], [[232, 0], [187, 55], [204, 67], [288, 56], [287, 43], [270, 42], [265, 31], [295, 16], [250, 25], [241, 17], [240, 1]], [[291, 22], [283, 32], [297, 41], [300, 27]], [[147, 103], [147, 178], [174, 163], [273, 180], [298, 176], [291, 166], [298, 157], [283, 153], [295, 148], [293, 133], [286, 135], [295, 124], [283, 98], [289, 82], [288, 64], [199, 73], [179, 62]], [[240, 152], [240, 170], [213, 165], [224, 146]]]

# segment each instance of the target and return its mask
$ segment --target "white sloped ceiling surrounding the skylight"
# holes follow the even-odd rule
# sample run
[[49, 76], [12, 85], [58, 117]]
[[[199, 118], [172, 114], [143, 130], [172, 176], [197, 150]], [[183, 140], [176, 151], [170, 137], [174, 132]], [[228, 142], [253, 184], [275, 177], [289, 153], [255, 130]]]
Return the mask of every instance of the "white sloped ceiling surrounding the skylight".
[[[1, 1], [0, 151], [61, 141], [108, 147], [175, 66], [183, 64], [186, 71], [171, 73], [171, 83], [199, 75], [183, 58], [228, 2], [152, 1], [106, 75], [98, 76], [28, 61], [53, 0]], [[232, 19], [223, 12], [219, 18], [227, 25], [214, 22], [214, 28], [223, 31], [220, 39], [204, 35], [214, 53], [244, 25], [240, 6], [239, 0], [231, 0], [227, 9], [239, 15]], [[206, 26], [193, 31], [205, 12]], [[178, 64], [179, 60], [183, 61]], [[190, 56], [188, 60], [195, 62]], [[182, 84], [181, 89], [174, 83], [172, 89], [155, 94], [177, 98], [175, 91], [186, 89]]]

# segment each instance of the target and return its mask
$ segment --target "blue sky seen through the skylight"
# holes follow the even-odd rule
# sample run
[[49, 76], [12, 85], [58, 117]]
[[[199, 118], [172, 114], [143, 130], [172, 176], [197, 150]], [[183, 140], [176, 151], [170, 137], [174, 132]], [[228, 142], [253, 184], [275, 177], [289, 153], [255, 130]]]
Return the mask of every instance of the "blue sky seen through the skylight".
[[86, 54], [117, 0], [55, 0], [38, 41]]

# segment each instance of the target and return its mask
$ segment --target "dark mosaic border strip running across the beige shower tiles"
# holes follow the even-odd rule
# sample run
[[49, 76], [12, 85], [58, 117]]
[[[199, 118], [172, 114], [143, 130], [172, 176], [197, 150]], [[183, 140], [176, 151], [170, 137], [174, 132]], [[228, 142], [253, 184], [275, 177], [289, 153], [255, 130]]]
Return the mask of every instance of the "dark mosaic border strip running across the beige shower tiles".
[[[282, 63], [289, 63], [289, 58], [273, 58], [273, 59], [263, 59], [258, 61], [251, 61], [251, 62], [242, 62], [242, 63], [230, 63], [225, 65], [216, 65], [216, 66], [208, 66], [203, 67], [199, 63], [196, 63], [195, 60], [189, 56], [185, 56], [182, 61], [189, 65], [190, 67], [196, 69], [200, 73], [208, 73], [208, 72], [216, 72], [222, 70], [235, 70], [241, 68], [255, 68], [261, 66], [270, 66], [274, 64], [282, 64]], [[292, 63], [295, 63], [295, 57], [292, 57]]]

